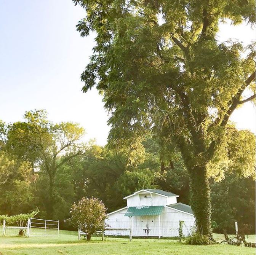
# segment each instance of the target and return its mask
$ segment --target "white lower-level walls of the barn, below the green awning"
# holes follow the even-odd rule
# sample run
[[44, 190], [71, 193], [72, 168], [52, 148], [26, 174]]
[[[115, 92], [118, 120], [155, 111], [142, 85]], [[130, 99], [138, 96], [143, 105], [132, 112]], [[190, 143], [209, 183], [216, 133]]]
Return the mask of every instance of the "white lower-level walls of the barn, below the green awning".
[[[115, 228], [130, 228], [130, 219], [124, 216], [128, 209], [125, 208], [118, 212], [109, 215], [106, 223], [109, 227]], [[145, 229], [150, 229], [149, 236], [158, 236], [159, 225], [158, 216], [139, 216], [132, 217], [132, 235], [133, 236], [147, 236]], [[191, 233], [191, 228], [194, 226], [194, 216], [191, 214], [186, 214], [179, 212], [177, 210], [165, 207], [162, 214], [160, 215], [160, 231], [163, 237], [174, 237], [179, 235], [179, 220], [184, 221], [183, 233], [187, 236]], [[129, 236], [129, 230], [107, 230], [106, 235], [115, 236]]]

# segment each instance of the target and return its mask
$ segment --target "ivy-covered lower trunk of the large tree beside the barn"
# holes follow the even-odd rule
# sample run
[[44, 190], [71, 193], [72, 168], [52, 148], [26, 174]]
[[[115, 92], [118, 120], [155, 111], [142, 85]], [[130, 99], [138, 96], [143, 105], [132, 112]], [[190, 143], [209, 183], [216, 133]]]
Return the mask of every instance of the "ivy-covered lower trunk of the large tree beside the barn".
[[190, 204], [197, 230], [212, 239], [210, 185], [206, 167], [194, 167], [190, 172]]

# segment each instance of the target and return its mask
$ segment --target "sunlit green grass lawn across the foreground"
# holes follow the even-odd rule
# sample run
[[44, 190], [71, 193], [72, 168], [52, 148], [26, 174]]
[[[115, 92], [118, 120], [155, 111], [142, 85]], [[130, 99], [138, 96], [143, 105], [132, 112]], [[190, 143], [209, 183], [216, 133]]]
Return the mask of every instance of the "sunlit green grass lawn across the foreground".
[[[222, 239], [221, 234], [215, 234]], [[255, 240], [255, 235], [250, 237]], [[248, 240], [249, 241], [249, 240]], [[59, 237], [2, 237], [0, 255], [254, 255], [255, 249], [225, 244], [193, 246], [179, 243], [174, 239], [133, 239], [110, 238], [102, 242], [99, 237], [92, 241], [78, 241], [77, 233], [60, 231]]]

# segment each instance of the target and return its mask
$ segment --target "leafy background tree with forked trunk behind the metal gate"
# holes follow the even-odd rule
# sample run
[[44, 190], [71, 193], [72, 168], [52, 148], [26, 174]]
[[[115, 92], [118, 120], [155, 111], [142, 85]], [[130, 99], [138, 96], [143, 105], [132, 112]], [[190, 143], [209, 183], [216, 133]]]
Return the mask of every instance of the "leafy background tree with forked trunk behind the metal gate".
[[29, 160], [34, 171], [47, 175], [45, 205], [47, 217], [52, 218], [57, 199], [56, 174], [69, 159], [84, 152], [85, 147], [77, 143], [84, 130], [70, 122], [52, 124], [44, 110], [26, 112], [24, 118], [24, 122], [8, 125], [6, 151], [19, 160]]

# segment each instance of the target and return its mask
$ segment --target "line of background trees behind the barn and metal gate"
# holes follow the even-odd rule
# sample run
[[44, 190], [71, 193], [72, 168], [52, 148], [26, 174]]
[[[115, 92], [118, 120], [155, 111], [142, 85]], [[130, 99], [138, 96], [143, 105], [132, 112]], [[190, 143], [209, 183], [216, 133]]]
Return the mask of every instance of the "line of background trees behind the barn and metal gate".
[[[234, 231], [234, 221], [255, 231], [255, 135], [230, 125], [227, 158], [209, 166], [213, 227]], [[43, 110], [24, 121], [0, 122], [0, 215], [29, 213], [64, 220], [71, 205], [97, 197], [107, 212], [126, 206], [123, 197], [141, 188], [171, 191], [190, 204], [189, 172], [174, 145], [163, 147], [154, 135], [132, 146], [113, 148], [82, 142], [76, 123], [52, 123]]]

